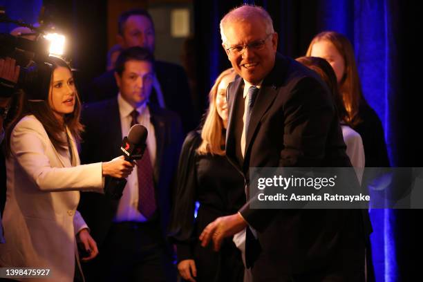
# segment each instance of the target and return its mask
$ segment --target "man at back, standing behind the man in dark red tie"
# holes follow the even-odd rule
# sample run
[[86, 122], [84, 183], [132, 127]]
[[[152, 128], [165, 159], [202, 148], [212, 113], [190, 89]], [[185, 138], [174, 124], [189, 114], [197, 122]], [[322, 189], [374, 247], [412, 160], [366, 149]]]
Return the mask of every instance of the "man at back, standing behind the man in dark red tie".
[[[142, 9], [123, 12], [119, 18], [118, 44], [123, 49], [140, 46], [154, 53], [156, 35], [153, 19], [149, 12]], [[198, 125], [198, 115], [189, 93], [187, 75], [181, 66], [168, 62], [155, 62], [153, 91], [150, 100], [161, 108], [170, 109], [180, 115], [185, 132]], [[93, 80], [86, 89], [86, 102], [96, 102], [115, 97], [118, 85], [114, 71], [107, 71]]]

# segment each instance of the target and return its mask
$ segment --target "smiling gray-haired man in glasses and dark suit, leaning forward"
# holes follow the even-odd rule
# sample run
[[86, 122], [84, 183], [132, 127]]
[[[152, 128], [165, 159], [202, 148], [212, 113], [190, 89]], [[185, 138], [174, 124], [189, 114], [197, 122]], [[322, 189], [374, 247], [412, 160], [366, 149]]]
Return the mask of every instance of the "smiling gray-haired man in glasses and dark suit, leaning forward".
[[252, 209], [252, 167], [350, 167], [330, 93], [315, 73], [276, 53], [263, 8], [242, 6], [220, 21], [223, 48], [240, 77], [229, 85], [227, 158], [243, 174], [250, 200], [210, 223], [203, 246], [218, 249], [246, 229], [254, 281], [364, 281], [360, 210]]

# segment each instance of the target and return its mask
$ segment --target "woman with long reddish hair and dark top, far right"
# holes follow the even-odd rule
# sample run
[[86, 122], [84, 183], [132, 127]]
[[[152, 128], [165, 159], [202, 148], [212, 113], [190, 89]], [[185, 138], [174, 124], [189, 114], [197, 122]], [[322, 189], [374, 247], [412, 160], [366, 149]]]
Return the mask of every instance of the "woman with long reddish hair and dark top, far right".
[[354, 49], [345, 35], [324, 31], [316, 35], [306, 56], [321, 57], [332, 66], [348, 115], [346, 121], [363, 140], [366, 167], [389, 167], [382, 123], [361, 90]]

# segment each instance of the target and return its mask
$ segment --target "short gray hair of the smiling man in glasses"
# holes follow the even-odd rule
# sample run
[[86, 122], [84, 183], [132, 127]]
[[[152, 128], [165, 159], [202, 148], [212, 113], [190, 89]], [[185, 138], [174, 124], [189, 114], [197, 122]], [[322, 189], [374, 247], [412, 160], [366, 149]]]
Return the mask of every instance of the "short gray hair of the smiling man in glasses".
[[227, 45], [227, 37], [224, 29], [228, 23], [233, 23], [235, 21], [249, 21], [250, 19], [256, 17], [262, 19], [265, 23], [267, 35], [274, 32], [272, 18], [264, 8], [260, 6], [244, 5], [234, 8], [220, 21], [220, 37], [222, 37], [222, 43], [225, 46]]

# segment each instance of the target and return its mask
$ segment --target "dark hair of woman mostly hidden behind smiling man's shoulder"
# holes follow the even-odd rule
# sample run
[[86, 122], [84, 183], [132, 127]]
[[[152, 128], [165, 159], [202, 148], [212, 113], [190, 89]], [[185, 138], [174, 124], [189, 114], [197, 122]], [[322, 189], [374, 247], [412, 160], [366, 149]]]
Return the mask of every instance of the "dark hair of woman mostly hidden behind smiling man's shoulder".
[[348, 112], [345, 109], [341, 93], [339, 93], [337, 75], [335, 75], [335, 71], [333, 71], [332, 66], [330, 66], [326, 59], [319, 57], [299, 57], [296, 60], [297, 62], [300, 62], [304, 66], [307, 66], [308, 68], [315, 71], [321, 77], [321, 79], [323, 79], [323, 82], [325, 82], [328, 86], [333, 100], [335, 101], [339, 120], [345, 124], [350, 125]]

